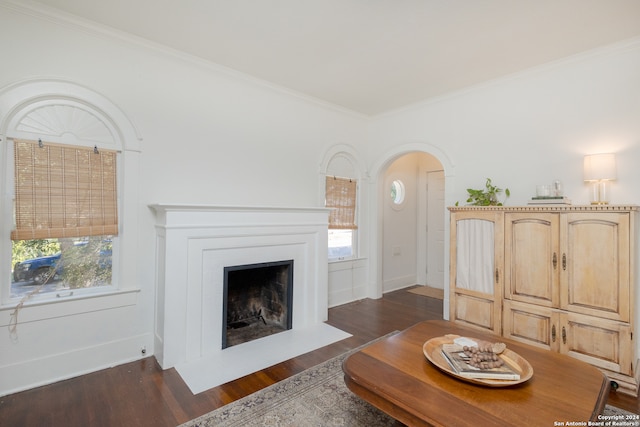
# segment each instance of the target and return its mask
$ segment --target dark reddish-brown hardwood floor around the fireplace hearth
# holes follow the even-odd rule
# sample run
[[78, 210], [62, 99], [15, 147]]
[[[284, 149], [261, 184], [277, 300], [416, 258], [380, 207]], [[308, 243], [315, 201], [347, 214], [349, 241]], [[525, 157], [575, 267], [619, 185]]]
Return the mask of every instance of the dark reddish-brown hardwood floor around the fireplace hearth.
[[[0, 426], [176, 426], [389, 332], [440, 318], [442, 301], [391, 292], [329, 310], [328, 323], [351, 338], [195, 396], [175, 369], [162, 371], [148, 357], [0, 397]], [[640, 413], [631, 396], [612, 392], [609, 403]]]

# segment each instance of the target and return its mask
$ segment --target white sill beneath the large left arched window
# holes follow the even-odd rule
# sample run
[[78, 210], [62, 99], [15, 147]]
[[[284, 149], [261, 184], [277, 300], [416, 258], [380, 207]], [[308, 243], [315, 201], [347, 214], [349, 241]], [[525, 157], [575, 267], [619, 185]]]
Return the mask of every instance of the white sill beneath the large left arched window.
[[[18, 324], [135, 305], [139, 292], [140, 289], [120, 289], [108, 293], [70, 295], [63, 299], [28, 301], [18, 312]], [[11, 314], [18, 303], [0, 306], [0, 327], [9, 326]]]

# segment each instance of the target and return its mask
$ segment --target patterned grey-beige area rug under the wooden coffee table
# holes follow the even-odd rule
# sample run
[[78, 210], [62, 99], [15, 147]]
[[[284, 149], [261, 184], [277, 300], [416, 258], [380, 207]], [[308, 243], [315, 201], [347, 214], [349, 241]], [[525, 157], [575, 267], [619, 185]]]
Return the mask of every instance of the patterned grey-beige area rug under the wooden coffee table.
[[[350, 353], [309, 368], [180, 427], [399, 425], [347, 388], [343, 378], [342, 362]], [[624, 416], [631, 413], [607, 405], [604, 414]]]

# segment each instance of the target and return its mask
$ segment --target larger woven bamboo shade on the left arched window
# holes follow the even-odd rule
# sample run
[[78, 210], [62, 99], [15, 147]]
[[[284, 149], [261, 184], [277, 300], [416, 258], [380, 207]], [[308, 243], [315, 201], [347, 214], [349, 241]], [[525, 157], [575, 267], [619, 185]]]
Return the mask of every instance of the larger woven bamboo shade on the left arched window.
[[116, 154], [14, 140], [11, 239], [117, 235]]

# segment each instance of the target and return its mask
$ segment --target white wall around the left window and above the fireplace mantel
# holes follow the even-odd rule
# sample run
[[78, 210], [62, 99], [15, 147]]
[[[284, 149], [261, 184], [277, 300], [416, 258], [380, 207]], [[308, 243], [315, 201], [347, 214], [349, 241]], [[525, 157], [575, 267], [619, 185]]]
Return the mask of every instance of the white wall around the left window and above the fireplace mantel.
[[[123, 224], [123, 233], [137, 240], [137, 250], [124, 256], [138, 265], [123, 286], [139, 292], [108, 309], [96, 305], [100, 298], [27, 304], [17, 340], [6, 327], [15, 303], [0, 307], [0, 395], [140, 358], [142, 346], [153, 354], [155, 217], [149, 204], [318, 206], [324, 153], [338, 143], [357, 147], [366, 136], [367, 122], [356, 114], [3, 4], [0, 52], [0, 90], [36, 77], [71, 81], [117, 105], [143, 139], [140, 197], [126, 207], [139, 211], [139, 223]], [[0, 271], [7, 273], [4, 262]]]

